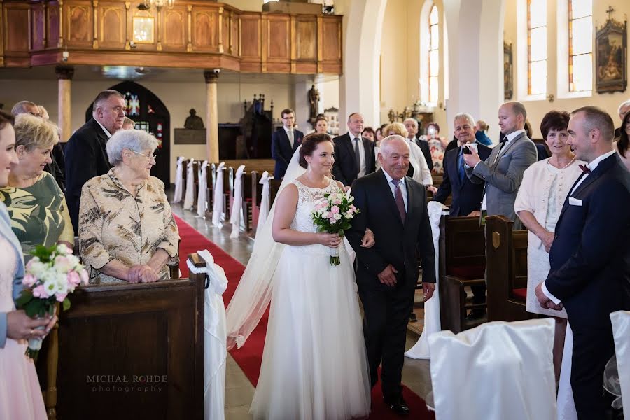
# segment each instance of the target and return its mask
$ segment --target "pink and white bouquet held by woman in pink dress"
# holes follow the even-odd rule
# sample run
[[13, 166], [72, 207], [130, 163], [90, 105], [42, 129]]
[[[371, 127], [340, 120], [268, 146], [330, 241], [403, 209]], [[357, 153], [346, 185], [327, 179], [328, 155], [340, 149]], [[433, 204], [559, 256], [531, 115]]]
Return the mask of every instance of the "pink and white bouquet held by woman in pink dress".
[[[31, 255], [33, 258], [26, 265], [22, 279], [25, 289], [16, 302], [18, 309], [24, 309], [31, 318], [52, 316], [57, 302], [62, 302], [64, 311], [70, 309], [69, 293], [73, 293], [76, 286], [87, 284], [88, 279], [78, 257], [63, 244], [50, 248], [37, 246]], [[39, 349], [41, 339], [29, 339], [26, 355], [36, 359]]]

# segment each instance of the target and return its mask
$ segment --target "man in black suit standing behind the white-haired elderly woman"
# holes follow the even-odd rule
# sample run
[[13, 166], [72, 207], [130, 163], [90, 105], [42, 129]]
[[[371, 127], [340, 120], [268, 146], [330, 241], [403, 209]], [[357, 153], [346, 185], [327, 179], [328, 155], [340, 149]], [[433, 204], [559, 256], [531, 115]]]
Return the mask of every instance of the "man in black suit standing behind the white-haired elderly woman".
[[80, 127], [66, 144], [66, 202], [78, 232], [78, 212], [83, 184], [109, 172], [111, 165], [105, 145], [123, 127], [125, 98], [116, 90], [100, 92], [92, 104], [92, 118]]

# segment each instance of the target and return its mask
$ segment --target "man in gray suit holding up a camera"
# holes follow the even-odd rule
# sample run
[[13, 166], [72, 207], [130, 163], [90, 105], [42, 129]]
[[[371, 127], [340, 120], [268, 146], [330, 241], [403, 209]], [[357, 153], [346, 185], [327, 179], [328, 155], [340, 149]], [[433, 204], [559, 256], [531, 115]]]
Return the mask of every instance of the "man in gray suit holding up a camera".
[[521, 229], [521, 221], [514, 212], [514, 200], [523, 180], [525, 169], [538, 160], [536, 146], [525, 134], [527, 112], [520, 102], [506, 102], [498, 112], [499, 126], [505, 141], [492, 149], [482, 161], [474, 149], [464, 155], [466, 175], [472, 183], [484, 183], [482, 212], [488, 216], [503, 214], [514, 221], [514, 229]]

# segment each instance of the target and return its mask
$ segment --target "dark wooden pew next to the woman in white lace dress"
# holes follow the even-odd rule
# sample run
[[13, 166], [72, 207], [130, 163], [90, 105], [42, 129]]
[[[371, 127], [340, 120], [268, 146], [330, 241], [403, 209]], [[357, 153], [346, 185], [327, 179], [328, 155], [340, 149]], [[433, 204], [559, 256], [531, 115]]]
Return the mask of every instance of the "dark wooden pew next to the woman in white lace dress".
[[512, 230], [505, 216], [486, 218], [488, 321], [538, 318], [525, 311], [527, 230]]

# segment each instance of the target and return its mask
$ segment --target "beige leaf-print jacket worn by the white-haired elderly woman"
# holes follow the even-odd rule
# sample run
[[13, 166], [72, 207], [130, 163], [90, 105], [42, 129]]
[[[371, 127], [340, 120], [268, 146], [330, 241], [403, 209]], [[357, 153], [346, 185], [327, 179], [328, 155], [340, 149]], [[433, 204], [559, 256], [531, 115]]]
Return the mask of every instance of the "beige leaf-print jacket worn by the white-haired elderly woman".
[[164, 183], [150, 176], [137, 187], [134, 198], [114, 169], [87, 181], [81, 191], [79, 248], [92, 284], [123, 282], [99, 269], [111, 260], [127, 267], [146, 264], [158, 248], [169, 254], [158, 276], [169, 279], [168, 266], [179, 262], [179, 230]]

